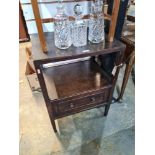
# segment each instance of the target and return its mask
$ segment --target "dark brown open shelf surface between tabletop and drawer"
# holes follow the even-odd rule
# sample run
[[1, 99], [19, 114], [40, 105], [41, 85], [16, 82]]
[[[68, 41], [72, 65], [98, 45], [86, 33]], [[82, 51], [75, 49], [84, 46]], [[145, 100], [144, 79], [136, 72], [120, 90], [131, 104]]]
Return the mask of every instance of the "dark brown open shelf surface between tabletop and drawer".
[[43, 69], [43, 76], [51, 100], [111, 87], [91, 59]]

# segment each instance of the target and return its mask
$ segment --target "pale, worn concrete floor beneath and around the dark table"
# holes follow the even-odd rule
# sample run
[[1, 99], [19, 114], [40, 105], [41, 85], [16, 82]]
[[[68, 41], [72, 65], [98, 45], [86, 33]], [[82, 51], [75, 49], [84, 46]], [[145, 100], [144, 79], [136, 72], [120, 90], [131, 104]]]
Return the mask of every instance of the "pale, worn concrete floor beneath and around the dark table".
[[30, 46], [19, 46], [20, 155], [134, 155], [135, 95], [131, 78], [123, 103], [112, 104], [107, 117], [103, 117], [104, 108], [65, 117], [56, 121], [59, 132], [55, 134], [42, 94], [31, 91], [25, 76], [25, 47]]

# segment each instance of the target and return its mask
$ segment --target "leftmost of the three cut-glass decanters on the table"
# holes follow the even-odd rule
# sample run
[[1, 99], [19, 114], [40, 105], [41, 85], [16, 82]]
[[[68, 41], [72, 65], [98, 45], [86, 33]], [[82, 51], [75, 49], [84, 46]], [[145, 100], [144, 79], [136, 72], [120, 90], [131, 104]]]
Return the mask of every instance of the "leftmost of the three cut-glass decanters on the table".
[[54, 41], [55, 46], [60, 49], [67, 49], [72, 44], [69, 17], [65, 14], [62, 0], [58, 1], [57, 14], [54, 17]]

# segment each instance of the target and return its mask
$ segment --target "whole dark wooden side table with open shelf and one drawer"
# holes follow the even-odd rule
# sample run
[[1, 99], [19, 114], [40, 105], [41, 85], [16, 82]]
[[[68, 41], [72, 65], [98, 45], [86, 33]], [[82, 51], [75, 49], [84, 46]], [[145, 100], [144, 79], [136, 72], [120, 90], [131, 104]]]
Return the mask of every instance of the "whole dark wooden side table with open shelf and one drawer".
[[[45, 33], [48, 53], [41, 51], [38, 35], [31, 35], [32, 57], [38, 80], [42, 89], [51, 124], [57, 132], [54, 120], [81, 111], [105, 106], [107, 116], [113, 91], [122, 62], [125, 45], [114, 40], [100, 44], [88, 43], [84, 47], [70, 47], [59, 50], [54, 46], [53, 33]], [[83, 52], [85, 51], [85, 52]], [[105, 74], [97, 57], [116, 53], [114, 63], [118, 65], [116, 73]], [[44, 68], [44, 64], [90, 57], [90, 59]]]

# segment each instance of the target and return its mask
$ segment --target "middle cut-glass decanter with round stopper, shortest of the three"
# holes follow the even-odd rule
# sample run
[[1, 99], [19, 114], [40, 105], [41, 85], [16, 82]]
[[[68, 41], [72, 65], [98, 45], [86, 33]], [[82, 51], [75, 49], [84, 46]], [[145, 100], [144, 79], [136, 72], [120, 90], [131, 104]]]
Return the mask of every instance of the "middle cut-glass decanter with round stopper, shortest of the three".
[[83, 8], [76, 4], [74, 7], [75, 22], [73, 23], [72, 38], [75, 47], [85, 46], [87, 44], [87, 24], [82, 19]]

